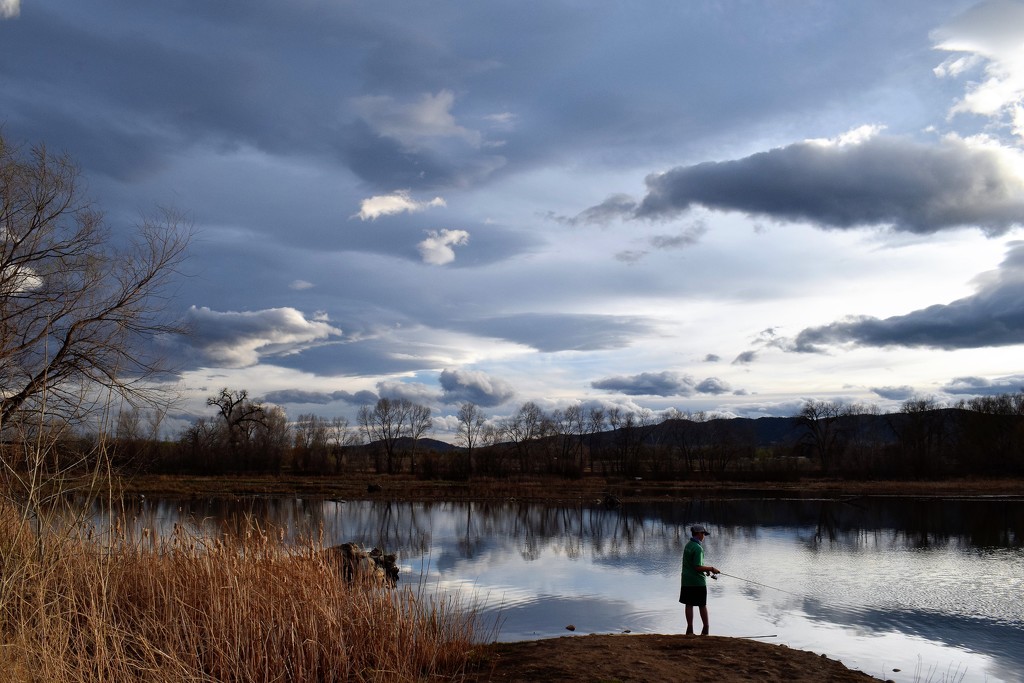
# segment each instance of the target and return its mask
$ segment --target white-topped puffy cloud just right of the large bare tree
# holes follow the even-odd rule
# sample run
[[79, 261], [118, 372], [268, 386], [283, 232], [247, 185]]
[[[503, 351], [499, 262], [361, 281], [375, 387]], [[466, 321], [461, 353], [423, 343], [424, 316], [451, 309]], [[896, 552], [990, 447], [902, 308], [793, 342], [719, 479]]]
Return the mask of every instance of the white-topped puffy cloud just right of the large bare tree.
[[327, 321], [307, 319], [295, 308], [221, 312], [193, 306], [185, 324], [189, 331], [185, 343], [200, 353], [203, 362], [225, 368], [248, 368], [341, 335]]

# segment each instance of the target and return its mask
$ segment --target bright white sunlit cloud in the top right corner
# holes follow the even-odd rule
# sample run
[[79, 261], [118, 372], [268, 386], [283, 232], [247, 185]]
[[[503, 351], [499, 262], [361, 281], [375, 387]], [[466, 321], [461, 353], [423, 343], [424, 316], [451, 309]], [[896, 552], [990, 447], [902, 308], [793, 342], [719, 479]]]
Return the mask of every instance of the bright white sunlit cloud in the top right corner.
[[980, 71], [950, 114], [976, 114], [1007, 122], [1024, 136], [1024, 4], [982, 2], [933, 32], [936, 49], [956, 53], [935, 69], [939, 77]]

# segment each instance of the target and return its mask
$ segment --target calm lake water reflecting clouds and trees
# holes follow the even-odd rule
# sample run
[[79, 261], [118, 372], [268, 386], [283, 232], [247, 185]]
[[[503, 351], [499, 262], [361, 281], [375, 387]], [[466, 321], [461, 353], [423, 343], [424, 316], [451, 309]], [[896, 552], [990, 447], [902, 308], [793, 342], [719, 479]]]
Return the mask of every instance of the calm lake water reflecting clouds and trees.
[[[896, 681], [1024, 680], [1024, 499], [694, 500], [554, 508], [301, 499], [162, 500], [136, 524], [245, 516], [397, 552], [404, 584], [460, 591], [499, 640], [681, 633], [679, 563], [708, 524], [712, 633]], [[900, 671], [895, 671], [900, 670]]]

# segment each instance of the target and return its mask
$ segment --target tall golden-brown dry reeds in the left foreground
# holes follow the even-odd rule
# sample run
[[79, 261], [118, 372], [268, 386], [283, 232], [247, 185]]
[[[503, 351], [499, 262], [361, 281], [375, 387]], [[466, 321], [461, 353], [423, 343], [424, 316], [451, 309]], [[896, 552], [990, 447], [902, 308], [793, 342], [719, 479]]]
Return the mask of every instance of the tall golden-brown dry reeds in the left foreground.
[[317, 543], [34, 535], [0, 508], [0, 679], [455, 681], [473, 610], [347, 584]]

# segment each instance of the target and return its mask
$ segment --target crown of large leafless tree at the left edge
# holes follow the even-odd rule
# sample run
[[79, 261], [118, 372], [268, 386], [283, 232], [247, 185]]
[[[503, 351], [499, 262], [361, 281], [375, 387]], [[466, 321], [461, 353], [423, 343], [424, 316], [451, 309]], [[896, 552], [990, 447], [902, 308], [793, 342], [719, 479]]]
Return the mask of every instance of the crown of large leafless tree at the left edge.
[[115, 246], [68, 157], [0, 137], [0, 427], [43, 407], [81, 416], [112, 393], [154, 401], [152, 340], [177, 331], [162, 304], [188, 240], [163, 212]]

